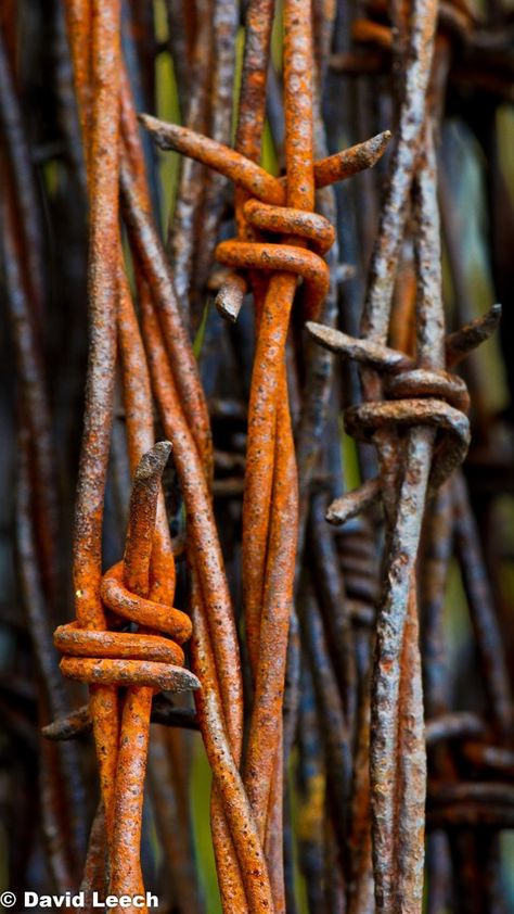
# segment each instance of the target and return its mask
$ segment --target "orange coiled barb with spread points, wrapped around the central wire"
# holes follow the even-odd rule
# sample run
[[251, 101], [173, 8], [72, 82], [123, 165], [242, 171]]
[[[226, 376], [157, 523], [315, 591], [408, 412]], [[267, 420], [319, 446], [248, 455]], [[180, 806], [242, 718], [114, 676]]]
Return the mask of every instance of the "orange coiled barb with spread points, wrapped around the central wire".
[[[167, 124], [149, 114], [139, 115], [139, 120], [162, 149], [172, 149], [195, 158], [226, 175], [237, 188], [244, 190], [249, 200], [243, 207], [243, 218], [253, 232], [274, 232], [283, 236], [285, 243], [281, 244], [258, 239], [243, 241], [237, 238], [218, 244], [217, 259], [235, 270], [227, 277], [218, 292], [216, 306], [220, 314], [229, 320], [236, 320], [248, 290], [244, 272], [253, 269], [292, 272], [301, 277], [306, 291], [307, 316], [316, 317], [330, 282], [329, 267], [323, 261], [323, 254], [334, 243], [335, 231], [329, 220], [317, 213], [286, 206], [286, 179], [273, 177], [235, 150], [187, 127]], [[389, 130], [384, 130], [362, 143], [314, 162], [314, 186], [329, 187], [371, 168], [384, 154], [390, 136]], [[344, 264], [339, 266], [342, 278], [348, 278], [351, 268]]]

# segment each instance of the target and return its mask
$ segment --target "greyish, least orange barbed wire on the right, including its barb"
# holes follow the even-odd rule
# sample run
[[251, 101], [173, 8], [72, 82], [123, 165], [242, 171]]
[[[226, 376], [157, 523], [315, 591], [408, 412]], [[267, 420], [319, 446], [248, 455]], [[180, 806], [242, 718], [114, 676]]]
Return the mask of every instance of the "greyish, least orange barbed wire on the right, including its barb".
[[[322, 344], [339, 348], [347, 357], [357, 358], [375, 370], [378, 368], [380, 371], [391, 372], [390, 377], [394, 380], [385, 385], [389, 397], [395, 397], [395, 391], [400, 390], [406, 393], [410, 390], [415, 396], [431, 396], [438, 391], [439, 396], [442, 394], [448, 403], [452, 404], [442, 406], [442, 402], [439, 405], [436, 399], [429, 399], [424, 404], [423, 401], [409, 401], [407, 406], [406, 401], [404, 407], [391, 402], [380, 405], [373, 403], [348, 410], [346, 426], [350, 432], [362, 434], [363, 430], [369, 429], [375, 436], [382, 464], [382, 480], [380, 483], [377, 480], [364, 483], [358, 495], [339, 499], [329, 512], [331, 520], [344, 521], [359, 510], [369, 508], [381, 494], [386, 517], [389, 518], [385, 592], [377, 621], [370, 747], [374, 878], [378, 911], [403, 910], [406, 903], [409, 910], [421, 910], [425, 762], [421, 668], [416, 648], [414, 561], [425, 492], [434, 492], [441, 485], [462, 461], [468, 445], [467, 421], [457, 411], [467, 410], [468, 398], [465, 389], [458, 379], [453, 381], [441, 372], [445, 352], [441, 334], [444, 319], [440, 299], [440, 252], [429, 127], [425, 127], [423, 141], [423, 155], [426, 156], [426, 161], [424, 163], [420, 156], [415, 165], [414, 183], [419, 232], [415, 237], [420, 321], [416, 358], [422, 368], [413, 368], [406, 356], [384, 346], [388, 305], [393, 295], [393, 281], [414, 167], [414, 158], [409, 161], [409, 157], [413, 156], [416, 149], [416, 131], [421, 129], [424, 116], [420, 98], [417, 97], [417, 102], [414, 102], [414, 99], [423, 85], [423, 78], [426, 80], [428, 77], [433, 16], [434, 8], [423, 13], [420, 11], [420, 16], [414, 16], [411, 24], [411, 56], [407, 63], [406, 101], [400, 115], [400, 118], [404, 117], [406, 120], [400, 119], [399, 142], [391, 164], [388, 196], [378, 233], [380, 245], [375, 247], [372, 261], [371, 283], [364, 307], [364, 339], [354, 341], [344, 334], [333, 333], [329, 328], [310, 328]], [[426, 31], [416, 33], [417, 27], [422, 28], [422, 23]], [[421, 43], [417, 43], [420, 39]], [[413, 76], [416, 67], [419, 73]], [[413, 77], [411, 88], [410, 75]], [[421, 91], [423, 94], [425, 90]], [[416, 111], [413, 104], [416, 104]], [[370, 343], [368, 338], [371, 338]], [[382, 344], [381, 351], [376, 347], [375, 340]], [[434, 372], [434, 369], [438, 373]], [[410, 379], [407, 386], [403, 386], [402, 377]], [[376, 375], [367, 368], [362, 380], [367, 398], [374, 401], [378, 393]], [[390, 432], [387, 431], [393, 423], [398, 428], [401, 423], [412, 426], [420, 420], [434, 422], [436, 428], [440, 428], [442, 423], [447, 431], [450, 424], [452, 426], [450, 435], [454, 440], [448, 449], [441, 441], [429, 479], [427, 473], [433, 459], [434, 432], [429, 429], [410, 431], [408, 437], [400, 443], [396, 436], [391, 440]], [[401, 448], [400, 453], [404, 455], [399, 475], [391, 462], [398, 448]], [[398, 498], [397, 506], [394, 500], [395, 493]], [[411, 721], [408, 731], [404, 729], [407, 719]], [[403, 721], [403, 732], [398, 727], [398, 720]]]

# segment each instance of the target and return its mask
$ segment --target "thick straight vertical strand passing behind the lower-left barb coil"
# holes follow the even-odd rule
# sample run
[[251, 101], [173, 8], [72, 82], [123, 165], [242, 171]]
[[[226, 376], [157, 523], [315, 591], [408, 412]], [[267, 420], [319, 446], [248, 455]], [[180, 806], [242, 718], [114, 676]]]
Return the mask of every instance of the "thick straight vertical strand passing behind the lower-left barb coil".
[[[106, 629], [100, 599], [102, 518], [113, 412], [119, 258], [117, 105], [120, 4], [118, 0], [110, 3], [69, 0], [66, 13], [89, 166], [91, 227], [91, 344], [76, 502], [74, 585], [79, 625], [102, 632]], [[118, 740], [116, 689], [105, 685], [93, 686], [91, 711], [107, 834], [111, 836]]]

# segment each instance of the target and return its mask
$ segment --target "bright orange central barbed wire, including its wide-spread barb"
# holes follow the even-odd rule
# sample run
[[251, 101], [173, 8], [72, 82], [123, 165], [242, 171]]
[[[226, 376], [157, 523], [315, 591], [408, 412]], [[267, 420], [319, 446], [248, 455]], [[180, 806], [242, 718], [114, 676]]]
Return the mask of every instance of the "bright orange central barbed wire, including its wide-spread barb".
[[[250, 11], [255, 12], [259, 7], [268, 8], [264, 16], [266, 20], [268, 15], [269, 25], [270, 4], [252, 4]], [[216, 252], [221, 263], [237, 269], [219, 293], [221, 306], [229, 297], [232, 302], [235, 300], [231, 316], [236, 315], [247, 285], [242, 271], [271, 272], [267, 293], [262, 295], [262, 287], [256, 290], [258, 337], [248, 412], [243, 509], [245, 631], [255, 685], [244, 774], [260, 838], [267, 849], [277, 910], [283, 910], [284, 903], [279, 862], [281, 838], [278, 847], [275, 842], [271, 849], [271, 833], [281, 834], [280, 826], [277, 828], [277, 811], [282, 805], [282, 695], [298, 518], [285, 376], [290, 313], [296, 292], [296, 275], [305, 280], [307, 307], [311, 313], [317, 312], [327, 290], [327, 267], [320, 254], [326, 252], [334, 236], [325, 219], [309, 212], [313, 210], [314, 181], [325, 186], [369, 167], [380, 157], [389, 138], [388, 134], [380, 135], [354, 151], [314, 165], [310, 4], [304, 0], [286, 2], [284, 24], [286, 182], [268, 175], [252, 161], [258, 157], [259, 142], [255, 132], [250, 131], [249, 139], [246, 138], [244, 152], [247, 157], [187, 128], [163, 124], [147, 115], [141, 117], [164, 149], [178, 150], [210, 165], [240, 188], [241, 240], [222, 242]], [[260, 21], [259, 26], [266, 31], [266, 22]], [[243, 76], [243, 90], [244, 86]], [[259, 88], [262, 91], [262, 85]], [[283, 234], [287, 243], [256, 240], [256, 230]], [[307, 249], [308, 243], [314, 251]], [[277, 272], [277, 269], [281, 271]]]

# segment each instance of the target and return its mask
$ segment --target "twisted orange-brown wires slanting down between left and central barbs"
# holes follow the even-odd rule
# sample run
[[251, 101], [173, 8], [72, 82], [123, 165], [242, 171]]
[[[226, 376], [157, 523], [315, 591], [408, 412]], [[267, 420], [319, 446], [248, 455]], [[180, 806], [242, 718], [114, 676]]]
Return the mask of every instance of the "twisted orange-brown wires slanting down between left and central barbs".
[[[249, 910], [257, 911], [261, 905], [269, 907], [271, 898], [260, 842], [254, 834], [252, 814], [237, 770], [242, 751], [241, 667], [210, 504], [210, 436], [198, 435], [205, 423], [200, 423], [195, 411], [191, 410], [189, 404], [192, 397], [182, 393], [188, 371], [201, 390], [194, 359], [191, 363], [189, 342], [181, 343], [177, 334], [168, 333], [169, 346], [165, 344], [169, 323], [162, 323], [159, 317], [163, 308], [172, 306], [176, 309], [175, 292], [149, 215], [142, 154], [133, 109], [126, 91], [123, 91], [123, 124], [124, 135], [130, 138], [126, 144], [132, 153], [132, 174], [127, 167], [121, 172], [126, 219], [133, 247], [150, 283], [140, 289], [143, 337], [162, 421], [174, 441], [175, 465], [188, 510], [190, 558], [195, 579], [192, 587], [195, 626], [192, 660], [202, 683], [202, 690], [196, 693], [198, 720], [215, 775], [213, 828], [218, 877], [227, 906], [237, 905], [237, 910], [244, 911], [248, 904]], [[180, 322], [178, 315], [175, 319]], [[170, 346], [175, 347], [174, 361], [168, 356]], [[191, 364], [194, 371], [191, 371]], [[207, 549], [205, 544], [208, 544]]]

